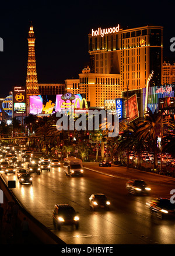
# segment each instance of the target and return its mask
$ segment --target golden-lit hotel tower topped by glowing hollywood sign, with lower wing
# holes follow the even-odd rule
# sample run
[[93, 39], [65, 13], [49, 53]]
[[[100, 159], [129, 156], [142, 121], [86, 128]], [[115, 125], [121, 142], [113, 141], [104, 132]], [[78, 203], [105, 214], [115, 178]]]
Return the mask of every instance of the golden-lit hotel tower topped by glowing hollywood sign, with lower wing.
[[150, 86], [162, 84], [162, 26], [92, 29], [88, 40], [90, 64], [79, 74], [78, 93], [86, 94], [90, 106], [103, 108], [104, 100], [121, 98], [127, 88], [145, 88], [152, 70]]

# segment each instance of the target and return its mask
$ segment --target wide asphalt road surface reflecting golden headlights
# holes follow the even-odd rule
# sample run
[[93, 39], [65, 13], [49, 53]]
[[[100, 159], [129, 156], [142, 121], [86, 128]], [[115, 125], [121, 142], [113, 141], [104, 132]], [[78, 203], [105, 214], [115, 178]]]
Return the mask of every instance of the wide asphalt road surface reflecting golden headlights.
[[[20, 185], [16, 175], [5, 175], [6, 181], [16, 179], [13, 193], [37, 220], [67, 244], [174, 244], [175, 218], [157, 219], [146, 202], [155, 197], [170, 198], [175, 179], [112, 166], [99, 167], [87, 163], [83, 177], [68, 177], [62, 167], [33, 174], [33, 185]], [[104, 174], [105, 173], [105, 174]], [[129, 178], [141, 178], [152, 188], [150, 196], [128, 194]], [[92, 193], [105, 193], [111, 201], [109, 211], [93, 212], [89, 207]], [[62, 226], [55, 230], [52, 211], [55, 203], [69, 203], [79, 212], [80, 226]]]

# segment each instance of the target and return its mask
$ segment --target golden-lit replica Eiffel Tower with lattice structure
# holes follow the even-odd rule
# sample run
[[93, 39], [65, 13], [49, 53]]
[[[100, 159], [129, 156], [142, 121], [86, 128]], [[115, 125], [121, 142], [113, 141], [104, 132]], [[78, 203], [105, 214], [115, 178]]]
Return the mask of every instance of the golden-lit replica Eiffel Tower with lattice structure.
[[36, 37], [34, 36], [33, 26], [30, 26], [29, 36], [27, 37], [29, 51], [28, 51], [28, 61], [27, 61], [27, 78], [26, 78], [26, 92], [27, 92], [27, 106], [29, 107], [29, 96], [38, 95], [38, 79], [36, 71], [36, 58], [34, 50], [34, 41]]

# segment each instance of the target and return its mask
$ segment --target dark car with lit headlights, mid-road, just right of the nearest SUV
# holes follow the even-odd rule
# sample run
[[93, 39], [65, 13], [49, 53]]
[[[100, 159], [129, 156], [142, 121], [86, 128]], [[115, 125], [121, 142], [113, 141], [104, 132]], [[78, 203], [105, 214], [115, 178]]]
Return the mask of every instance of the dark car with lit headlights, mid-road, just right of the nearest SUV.
[[92, 194], [89, 198], [89, 205], [90, 208], [95, 210], [95, 209], [107, 209], [109, 210], [110, 208], [110, 201], [107, 199], [106, 195], [103, 193], [95, 193]]

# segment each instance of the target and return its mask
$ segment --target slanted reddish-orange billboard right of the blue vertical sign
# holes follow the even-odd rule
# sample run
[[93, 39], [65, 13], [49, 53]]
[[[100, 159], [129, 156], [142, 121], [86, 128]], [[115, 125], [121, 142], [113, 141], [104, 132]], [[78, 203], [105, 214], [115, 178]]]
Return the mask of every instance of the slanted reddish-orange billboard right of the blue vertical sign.
[[[126, 111], [126, 117], [129, 118], [129, 122], [134, 121], [136, 118], [139, 117], [138, 112], [138, 102], [136, 98], [136, 94], [131, 96], [125, 103], [125, 111]], [[129, 112], [129, 113], [128, 113]]]

